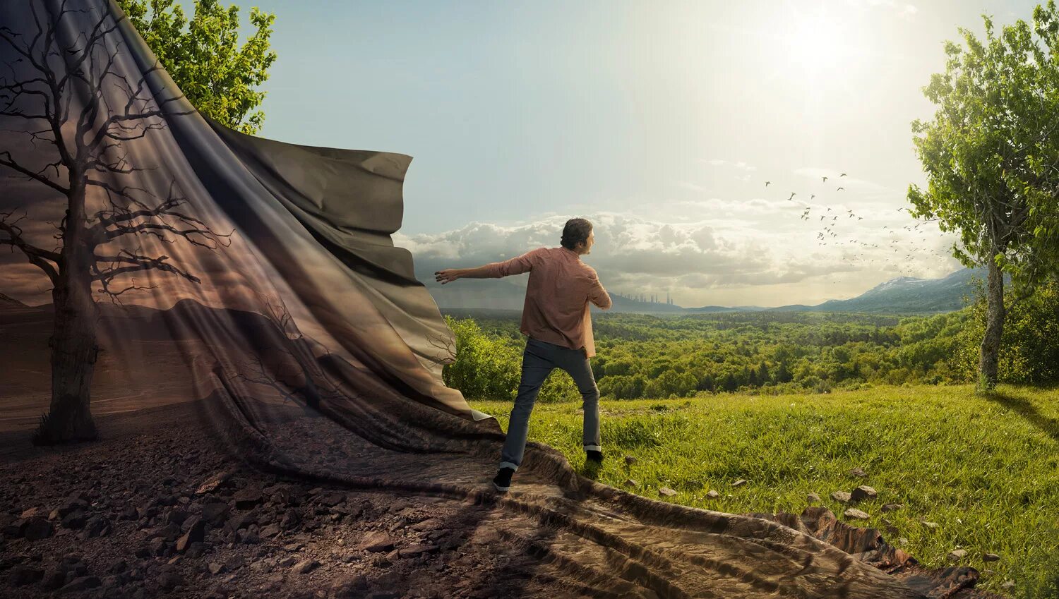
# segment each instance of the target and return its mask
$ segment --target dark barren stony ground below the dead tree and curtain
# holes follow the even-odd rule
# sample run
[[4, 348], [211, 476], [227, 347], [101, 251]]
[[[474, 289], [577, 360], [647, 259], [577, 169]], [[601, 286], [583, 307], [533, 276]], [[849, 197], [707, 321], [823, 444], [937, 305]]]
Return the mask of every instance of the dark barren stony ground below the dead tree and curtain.
[[64, 449], [7, 434], [0, 596], [584, 596], [534, 556], [528, 519], [276, 477], [193, 418], [189, 404], [109, 416], [103, 440]]

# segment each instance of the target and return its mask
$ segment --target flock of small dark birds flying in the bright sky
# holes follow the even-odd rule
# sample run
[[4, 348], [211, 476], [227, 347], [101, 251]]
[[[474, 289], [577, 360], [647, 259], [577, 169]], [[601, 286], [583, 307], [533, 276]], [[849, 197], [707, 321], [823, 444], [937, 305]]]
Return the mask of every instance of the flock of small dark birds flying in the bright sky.
[[[840, 178], [841, 177], [846, 177], [846, 174], [842, 173], [841, 175], [839, 175], [839, 177]], [[821, 177], [821, 179], [822, 179], [823, 183], [827, 183], [828, 177]], [[768, 187], [771, 184], [772, 184], [772, 181], [766, 181], [765, 182], [765, 186], [766, 187]], [[836, 192], [842, 192], [844, 189], [845, 189], [845, 187], [839, 186], [839, 187], [836, 188]], [[794, 200], [795, 196], [797, 196], [797, 194], [794, 193], [794, 192], [791, 192], [791, 195], [787, 198], [787, 201], [794, 202], [795, 201]], [[809, 199], [810, 200], [813, 200], [815, 198], [816, 198], [815, 194], [810, 194], [809, 195]], [[893, 251], [892, 252], [886, 252], [886, 257], [885, 258], [877, 258], [877, 257], [870, 257], [870, 255], [868, 255], [866, 252], [868, 252], [868, 251], [870, 251], [873, 249], [878, 250], [880, 248], [879, 243], [866, 243], [864, 241], [858, 240], [855, 237], [848, 238], [847, 241], [845, 241], [845, 242], [843, 242], [843, 241], [841, 241], [841, 240], [838, 239], [839, 238], [838, 225], [839, 225], [840, 222], [860, 222], [860, 221], [864, 220], [863, 216], [858, 216], [851, 210], [846, 210], [845, 214], [841, 214], [841, 212], [839, 210], [832, 210], [830, 206], [820, 206], [820, 205], [815, 205], [814, 206], [814, 205], [808, 204], [807, 202], [803, 202], [803, 204], [804, 205], [802, 206], [802, 215], [800, 216], [801, 220], [805, 220], [805, 221], [811, 221], [811, 220], [813, 220], [812, 216], [816, 216], [816, 215], [813, 215], [813, 211], [818, 211], [818, 215], [820, 216], [820, 218], [819, 218], [819, 220], [815, 220], [814, 222], [816, 222], [818, 224], [823, 223], [823, 229], [820, 230], [816, 233], [816, 244], [818, 246], [827, 246], [827, 244], [830, 243], [830, 244], [843, 247], [843, 246], [845, 246], [845, 243], [852, 243], [854, 246], [857, 247], [857, 254], [855, 254], [854, 256], [849, 256], [847, 258], [850, 261], [860, 261], [860, 262], [863, 262], [863, 264], [868, 265], [868, 266], [875, 265], [875, 262], [878, 261], [879, 264], [876, 265], [878, 267], [882, 267], [885, 264], [885, 265], [890, 265], [890, 266], [896, 266], [896, 267], [898, 267], [898, 270], [900, 270], [901, 272], [904, 272], [904, 271], [911, 271], [912, 270], [912, 265], [910, 264], [910, 261], [913, 260], [916, 257], [916, 254], [919, 253], [919, 252], [926, 252], [926, 253], [932, 254], [934, 256], [937, 256], [939, 258], [948, 257], [948, 254], [938, 252], [937, 250], [933, 250], [933, 249], [930, 249], [930, 248], [926, 248], [926, 247], [920, 247], [919, 246], [919, 242], [926, 242], [927, 241], [927, 237], [926, 237], [925, 231], [920, 231], [919, 228], [922, 226], [923, 224], [926, 224], [927, 222], [936, 221], [937, 220], [936, 218], [933, 218], [933, 219], [923, 219], [922, 221], [920, 221], [917, 224], [914, 224], [914, 225], [913, 224], [905, 224], [904, 226], [901, 228], [902, 230], [908, 231], [908, 232], [910, 232], [910, 233], [912, 233], [914, 235], [917, 235], [917, 236], [918, 235], [922, 235], [919, 238], [919, 241], [911, 240], [911, 247], [912, 247], [912, 251], [911, 252], [908, 251], [908, 249], [910, 247], [910, 240], [908, 239], [907, 235], [900, 236], [900, 235], [898, 235], [896, 229], [891, 229], [890, 225], [883, 225], [882, 230], [887, 230], [887, 233], [889, 233], [889, 235], [891, 237], [890, 243], [887, 246], [890, 248], [892, 248]], [[819, 211], [820, 211], [821, 207], [825, 208], [823, 211], [823, 214], [819, 214]], [[907, 210], [908, 208], [905, 208], [905, 207], [902, 206], [902, 207], [896, 208], [896, 212], [902, 212], [902, 211], [907, 211]], [[840, 220], [840, 218], [841, 218], [841, 220]], [[857, 219], [857, 220], [856, 221], [851, 221], [850, 219]], [[902, 252], [905, 252], [905, 253], [902, 254]], [[878, 251], [873, 252], [872, 255], [878, 256]], [[842, 282], [841, 280], [834, 280], [832, 283], [842, 283]]]

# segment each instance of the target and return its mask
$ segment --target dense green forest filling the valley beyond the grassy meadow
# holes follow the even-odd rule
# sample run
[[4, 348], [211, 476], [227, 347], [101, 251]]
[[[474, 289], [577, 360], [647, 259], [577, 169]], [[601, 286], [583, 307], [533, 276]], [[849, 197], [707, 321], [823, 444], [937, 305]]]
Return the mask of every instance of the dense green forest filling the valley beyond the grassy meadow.
[[[1009, 291], [1015, 293], [1015, 291]], [[1059, 284], [1042, 284], [1008, 313], [999, 377], [1059, 382]], [[448, 316], [447, 316], [448, 317]], [[930, 316], [747, 313], [693, 316], [596, 314], [592, 369], [610, 399], [717, 393], [831, 393], [890, 384], [959, 384], [976, 377], [985, 321], [981, 293], [967, 308]], [[465, 319], [446, 382], [473, 399], [514, 398], [524, 337], [515, 317]], [[467, 348], [464, 349], [464, 346]], [[552, 373], [541, 400], [579, 400]]]

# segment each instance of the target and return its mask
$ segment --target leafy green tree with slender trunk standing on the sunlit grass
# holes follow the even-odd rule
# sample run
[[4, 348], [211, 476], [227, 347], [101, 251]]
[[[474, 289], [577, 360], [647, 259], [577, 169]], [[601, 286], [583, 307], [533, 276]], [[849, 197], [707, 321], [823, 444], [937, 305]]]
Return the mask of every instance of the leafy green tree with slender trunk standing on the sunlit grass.
[[912, 124], [928, 188], [910, 185], [908, 198], [910, 214], [959, 233], [956, 258], [988, 268], [979, 356], [979, 388], [988, 392], [1004, 331], [1004, 273], [1018, 303], [1059, 264], [1059, 17], [1049, 0], [1034, 10], [1033, 26], [1020, 19], [1000, 35], [982, 18], [986, 39], [961, 28], [967, 49], [947, 41], [946, 72], [923, 88], [938, 105], [932, 122]]

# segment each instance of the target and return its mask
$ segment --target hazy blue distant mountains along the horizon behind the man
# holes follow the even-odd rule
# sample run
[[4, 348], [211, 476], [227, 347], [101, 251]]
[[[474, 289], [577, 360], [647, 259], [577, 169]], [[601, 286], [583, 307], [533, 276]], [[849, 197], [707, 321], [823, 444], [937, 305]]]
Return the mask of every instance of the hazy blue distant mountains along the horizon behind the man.
[[[611, 295], [614, 302], [611, 312], [634, 312], [645, 314], [702, 314], [714, 312], [867, 312], [881, 314], [917, 314], [951, 312], [966, 306], [964, 296], [973, 296], [972, 276], [986, 278], [986, 269], [961, 269], [943, 278], [914, 278], [899, 276], [865, 291], [849, 300], [828, 300], [815, 306], [791, 304], [775, 308], [760, 306], [702, 306], [684, 308], [672, 304], [638, 302], [627, 297]], [[1010, 276], [1005, 276], [1005, 285]], [[428, 284], [427, 289], [438, 307], [446, 310], [495, 309], [521, 310], [525, 300], [525, 287], [497, 279], [461, 279], [455, 284], [441, 286]], [[593, 312], [597, 312], [595, 307]]]

